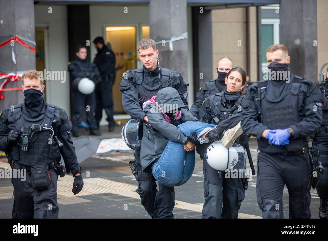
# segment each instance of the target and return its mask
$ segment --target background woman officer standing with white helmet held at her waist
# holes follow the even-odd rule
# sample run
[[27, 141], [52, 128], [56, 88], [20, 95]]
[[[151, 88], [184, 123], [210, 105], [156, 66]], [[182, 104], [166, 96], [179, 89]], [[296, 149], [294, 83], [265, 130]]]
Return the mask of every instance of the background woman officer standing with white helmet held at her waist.
[[[87, 47], [78, 45], [76, 50], [76, 59], [68, 63], [68, 71], [72, 74], [73, 80], [76, 78], [89, 78], [93, 81], [101, 79], [97, 66], [86, 59]], [[96, 119], [94, 118], [94, 111], [96, 108], [96, 93], [93, 91], [91, 94], [82, 94], [78, 90], [73, 90], [74, 101], [72, 110], [72, 133], [73, 136], [80, 136], [78, 128], [82, 120], [83, 106], [89, 106], [87, 111], [87, 122], [90, 128], [90, 135], [101, 135], [97, 129]]]

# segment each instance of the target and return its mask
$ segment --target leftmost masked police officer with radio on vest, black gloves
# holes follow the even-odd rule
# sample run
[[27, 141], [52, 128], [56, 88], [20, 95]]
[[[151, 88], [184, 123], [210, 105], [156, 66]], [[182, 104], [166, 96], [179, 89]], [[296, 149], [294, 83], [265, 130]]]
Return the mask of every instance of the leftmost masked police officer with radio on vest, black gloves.
[[70, 137], [72, 124], [65, 110], [45, 103], [43, 79], [38, 77], [38, 71], [26, 71], [22, 75], [24, 102], [0, 114], [0, 150], [6, 153], [13, 170], [26, 170], [25, 180], [11, 179], [13, 218], [58, 218], [56, 170], [60, 154], [66, 172], [75, 177], [74, 195], [83, 187]]

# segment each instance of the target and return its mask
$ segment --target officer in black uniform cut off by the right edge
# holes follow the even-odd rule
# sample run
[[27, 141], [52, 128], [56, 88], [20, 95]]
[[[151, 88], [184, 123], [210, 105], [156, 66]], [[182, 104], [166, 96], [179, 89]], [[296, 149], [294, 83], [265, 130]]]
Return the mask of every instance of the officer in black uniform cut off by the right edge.
[[[326, 72], [328, 73], [328, 67]], [[320, 198], [319, 217], [328, 218], [328, 78], [319, 84], [323, 95], [322, 123], [315, 132], [312, 142], [312, 151], [315, 164], [321, 162], [324, 169], [321, 179], [316, 187]]]

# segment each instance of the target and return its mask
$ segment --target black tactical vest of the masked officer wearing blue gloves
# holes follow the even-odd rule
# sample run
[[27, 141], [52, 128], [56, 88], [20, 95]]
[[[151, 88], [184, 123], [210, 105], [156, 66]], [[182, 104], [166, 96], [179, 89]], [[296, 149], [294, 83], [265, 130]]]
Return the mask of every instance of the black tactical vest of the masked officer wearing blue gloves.
[[[267, 126], [270, 130], [286, 129], [301, 121], [298, 115], [298, 109], [303, 103], [303, 98], [298, 99], [298, 94], [302, 80], [303, 78], [295, 75], [292, 80], [290, 92], [283, 93], [285, 97], [277, 102], [269, 101], [266, 98], [267, 81], [258, 82], [255, 104], [260, 111], [261, 123], [264, 126]], [[289, 141], [289, 145], [277, 146], [269, 144], [265, 138], [260, 138], [260, 140], [257, 140], [258, 150], [266, 153], [300, 151], [308, 143], [309, 137], [299, 137], [296, 139], [291, 137]]]

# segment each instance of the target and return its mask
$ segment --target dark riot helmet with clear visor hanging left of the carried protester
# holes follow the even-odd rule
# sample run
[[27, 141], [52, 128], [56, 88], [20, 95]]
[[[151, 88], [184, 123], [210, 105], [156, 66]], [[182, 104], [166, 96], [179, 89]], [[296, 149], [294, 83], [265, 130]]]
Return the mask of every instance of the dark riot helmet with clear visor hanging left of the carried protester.
[[128, 120], [122, 128], [122, 139], [133, 150], [141, 147], [143, 136], [143, 122], [140, 119]]

